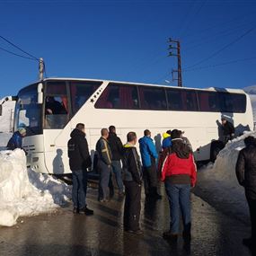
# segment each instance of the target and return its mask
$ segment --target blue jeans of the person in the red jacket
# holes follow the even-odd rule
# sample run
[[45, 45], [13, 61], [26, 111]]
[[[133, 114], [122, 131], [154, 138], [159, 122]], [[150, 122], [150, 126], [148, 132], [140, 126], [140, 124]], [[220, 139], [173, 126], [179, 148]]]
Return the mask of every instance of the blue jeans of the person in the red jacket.
[[183, 233], [190, 233], [191, 229], [191, 209], [190, 209], [190, 184], [171, 184], [165, 181], [165, 190], [170, 205], [171, 224], [170, 231], [172, 234], [179, 234], [180, 226], [180, 209], [182, 222], [184, 226]]

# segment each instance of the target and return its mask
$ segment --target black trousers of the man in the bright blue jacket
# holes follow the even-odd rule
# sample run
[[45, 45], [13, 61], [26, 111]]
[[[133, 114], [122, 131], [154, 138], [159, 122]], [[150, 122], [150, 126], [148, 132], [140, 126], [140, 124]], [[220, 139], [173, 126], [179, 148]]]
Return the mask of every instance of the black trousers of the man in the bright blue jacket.
[[154, 164], [143, 168], [144, 189], [146, 195], [157, 193], [157, 172]]

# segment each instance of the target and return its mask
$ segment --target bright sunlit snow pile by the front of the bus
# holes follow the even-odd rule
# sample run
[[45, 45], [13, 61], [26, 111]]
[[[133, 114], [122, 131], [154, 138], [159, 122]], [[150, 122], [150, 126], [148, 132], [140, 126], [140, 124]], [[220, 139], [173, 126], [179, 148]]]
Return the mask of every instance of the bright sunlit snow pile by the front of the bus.
[[19, 216], [52, 211], [70, 198], [66, 183], [27, 170], [21, 149], [0, 151], [0, 225], [12, 226]]

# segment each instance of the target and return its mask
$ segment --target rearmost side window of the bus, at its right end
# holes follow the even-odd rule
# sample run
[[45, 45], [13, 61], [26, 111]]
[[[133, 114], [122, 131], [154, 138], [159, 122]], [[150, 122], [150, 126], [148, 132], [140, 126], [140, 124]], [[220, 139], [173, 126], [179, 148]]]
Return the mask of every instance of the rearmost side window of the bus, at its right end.
[[221, 93], [222, 111], [244, 113], [246, 110], [246, 96], [239, 93]]

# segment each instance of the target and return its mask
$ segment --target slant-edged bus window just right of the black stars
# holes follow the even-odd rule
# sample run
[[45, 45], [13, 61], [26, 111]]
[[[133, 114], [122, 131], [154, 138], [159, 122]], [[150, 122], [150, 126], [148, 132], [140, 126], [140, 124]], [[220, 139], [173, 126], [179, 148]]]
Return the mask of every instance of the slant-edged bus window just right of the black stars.
[[109, 84], [95, 104], [96, 109], [138, 109], [137, 86]]

